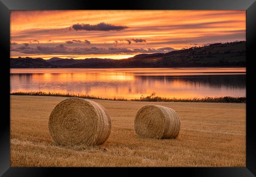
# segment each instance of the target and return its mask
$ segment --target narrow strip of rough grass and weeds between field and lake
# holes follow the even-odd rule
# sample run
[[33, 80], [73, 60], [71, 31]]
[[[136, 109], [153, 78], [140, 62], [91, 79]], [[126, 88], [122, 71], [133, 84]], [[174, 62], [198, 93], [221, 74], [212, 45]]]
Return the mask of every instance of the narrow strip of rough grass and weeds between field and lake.
[[205, 97], [205, 98], [162, 98], [156, 96], [153, 92], [150, 96], [141, 96], [135, 99], [125, 98], [103, 98], [99, 96], [80, 95], [80, 94], [62, 94], [51, 92], [13, 92], [10, 95], [30, 95], [30, 96], [62, 96], [62, 97], [78, 97], [97, 100], [119, 100], [119, 101], [163, 101], [163, 102], [208, 102], [208, 103], [246, 103], [246, 97]]

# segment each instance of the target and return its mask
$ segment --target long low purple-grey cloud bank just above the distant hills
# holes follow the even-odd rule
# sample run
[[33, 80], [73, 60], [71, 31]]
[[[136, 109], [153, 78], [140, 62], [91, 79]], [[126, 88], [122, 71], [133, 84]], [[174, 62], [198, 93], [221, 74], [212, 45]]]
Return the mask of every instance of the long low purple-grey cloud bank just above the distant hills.
[[69, 54], [69, 55], [87, 55], [87, 54], [136, 54], [136, 53], [166, 53], [175, 50], [171, 47], [163, 48], [103, 48], [103, 47], [75, 47], [68, 48], [63, 44], [57, 46], [42, 46], [38, 45], [35, 48], [23, 45], [19, 48], [11, 48], [11, 51], [26, 53], [26, 54]]

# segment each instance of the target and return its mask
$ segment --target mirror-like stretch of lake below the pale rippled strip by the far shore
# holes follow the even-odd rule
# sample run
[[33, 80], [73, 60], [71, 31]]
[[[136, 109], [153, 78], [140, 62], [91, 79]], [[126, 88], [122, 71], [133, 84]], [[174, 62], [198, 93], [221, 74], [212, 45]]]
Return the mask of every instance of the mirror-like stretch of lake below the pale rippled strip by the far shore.
[[[159, 76], [156, 76], [159, 74]], [[245, 96], [246, 75], [161, 76], [145, 72], [10, 74], [11, 92], [45, 91], [102, 97], [157, 96], [193, 98]]]

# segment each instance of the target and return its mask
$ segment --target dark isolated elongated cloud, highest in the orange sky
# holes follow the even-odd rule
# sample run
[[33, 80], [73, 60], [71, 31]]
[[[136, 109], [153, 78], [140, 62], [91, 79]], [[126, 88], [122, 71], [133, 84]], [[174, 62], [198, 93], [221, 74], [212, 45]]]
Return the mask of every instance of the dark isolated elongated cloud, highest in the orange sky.
[[72, 28], [74, 30], [85, 30], [85, 31], [120, 31], [124, 30], [126, 28], [129, 28], [128, 26], [115, 26], [113, 24], [108, 24], [101, 22], [96, 25], [90, 25], [90, 24], [73, 24]]

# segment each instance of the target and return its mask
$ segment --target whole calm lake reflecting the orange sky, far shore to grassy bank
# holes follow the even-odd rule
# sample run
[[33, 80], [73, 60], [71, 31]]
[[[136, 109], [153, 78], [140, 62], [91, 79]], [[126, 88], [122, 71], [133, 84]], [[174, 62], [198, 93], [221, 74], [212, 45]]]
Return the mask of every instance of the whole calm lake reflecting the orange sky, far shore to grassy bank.
[[108, 98], [246, 96], [246, 68], [11, 69], [10, 84], [10, 92]]

